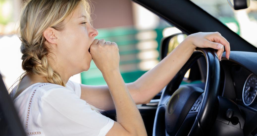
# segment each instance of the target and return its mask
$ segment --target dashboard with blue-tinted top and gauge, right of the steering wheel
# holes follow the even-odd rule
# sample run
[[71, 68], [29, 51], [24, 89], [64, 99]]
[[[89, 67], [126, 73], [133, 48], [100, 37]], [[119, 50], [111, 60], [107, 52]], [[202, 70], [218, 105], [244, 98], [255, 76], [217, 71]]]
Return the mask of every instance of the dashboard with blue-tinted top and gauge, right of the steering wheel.
[[221, 61], [219, 95], [235, 102], [246, 122], [257, 113], [257, 53], [231, 51]]

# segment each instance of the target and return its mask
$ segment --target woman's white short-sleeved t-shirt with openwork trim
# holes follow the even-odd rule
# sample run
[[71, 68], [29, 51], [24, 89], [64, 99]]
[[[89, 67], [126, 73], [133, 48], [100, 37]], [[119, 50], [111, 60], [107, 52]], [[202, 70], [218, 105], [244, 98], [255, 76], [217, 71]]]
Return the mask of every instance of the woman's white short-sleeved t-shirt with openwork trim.
[[66, 87], [35, 83], [13, 102], [27, 135], [106, 135], [114, 121], [92, 110], [80, 95], [79, 83], [70, 80]]

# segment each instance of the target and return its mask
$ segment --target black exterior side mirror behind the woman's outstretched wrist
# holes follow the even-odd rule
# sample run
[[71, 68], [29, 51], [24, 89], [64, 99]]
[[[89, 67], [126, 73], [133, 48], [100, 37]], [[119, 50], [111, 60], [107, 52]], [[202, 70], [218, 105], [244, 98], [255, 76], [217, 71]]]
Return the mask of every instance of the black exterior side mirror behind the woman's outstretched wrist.
[[186, 37], [186, 34], [176, 33], [162, 38], [160, 46], [160, 60], [173, 51]]

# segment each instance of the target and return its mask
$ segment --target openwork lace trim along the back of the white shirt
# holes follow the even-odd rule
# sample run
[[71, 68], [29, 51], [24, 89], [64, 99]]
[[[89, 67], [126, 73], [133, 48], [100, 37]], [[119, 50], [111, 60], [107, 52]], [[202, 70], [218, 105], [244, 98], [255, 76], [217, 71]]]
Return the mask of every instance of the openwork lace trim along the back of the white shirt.
[[[43, 86], [45, 84], [42, 84], [40, 85], [39, 87]], [[30, 97], [30, 102], [29, 102], [29, 108], [28, 108], [28, 111], [27, 111], [27, 116], [26, 116], [26, 123], [25, 123], [25, 131], [27, 133], [27, 135], [38, 135], [38, 134], [41, 134], [40, 131], [28, 131], [28, 126], [29, 126], [29, 119], [30, 119], [30, 110], [31, 110], [31, 103], [32, 103], [32, 100], [33, 100], [33, 97], [34, 97], [34, 94], [35, 94], [36, 90], [33, 91], [31, 97]]]

